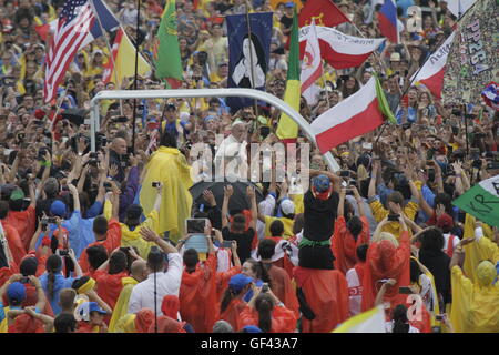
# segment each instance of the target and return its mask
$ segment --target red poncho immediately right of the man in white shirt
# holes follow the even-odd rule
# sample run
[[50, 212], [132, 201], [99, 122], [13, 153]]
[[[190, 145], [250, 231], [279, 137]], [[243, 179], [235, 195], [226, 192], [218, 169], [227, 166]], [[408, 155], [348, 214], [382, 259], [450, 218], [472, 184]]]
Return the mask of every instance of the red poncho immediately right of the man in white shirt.
[[196, 333], [212, 331], [220, 313], [216, 296], [216, 257], [210, 254], [203, 266], [197, 264], [195, 272], [184, 270], [182, 274], [180, 313]]

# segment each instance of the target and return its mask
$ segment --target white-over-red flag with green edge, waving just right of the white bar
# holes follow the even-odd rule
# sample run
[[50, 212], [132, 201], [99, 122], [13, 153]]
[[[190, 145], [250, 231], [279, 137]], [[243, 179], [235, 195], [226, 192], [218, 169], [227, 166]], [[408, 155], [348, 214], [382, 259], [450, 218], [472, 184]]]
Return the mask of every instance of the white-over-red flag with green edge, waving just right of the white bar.
[[381, 84], [373, 75], [356, 93], [334, 105], [310, 124], [320, 153], [368, 133], [388, 120], [395, 123]]

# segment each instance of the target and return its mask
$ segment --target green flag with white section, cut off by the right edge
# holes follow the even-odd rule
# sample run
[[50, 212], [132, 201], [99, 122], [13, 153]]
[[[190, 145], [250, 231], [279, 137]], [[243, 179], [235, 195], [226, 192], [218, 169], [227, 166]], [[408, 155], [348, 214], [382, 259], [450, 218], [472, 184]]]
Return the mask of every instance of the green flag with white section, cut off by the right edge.
[[499, 175], [478, 183], [452, 204], [489, 225], [499, 226]]

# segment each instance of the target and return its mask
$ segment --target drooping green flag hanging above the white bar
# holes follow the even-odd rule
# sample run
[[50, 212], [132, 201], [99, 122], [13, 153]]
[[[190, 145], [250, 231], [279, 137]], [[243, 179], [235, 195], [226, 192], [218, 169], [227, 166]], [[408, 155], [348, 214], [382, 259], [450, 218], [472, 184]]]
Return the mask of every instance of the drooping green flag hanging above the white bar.
[[154, 48], [156, 77], [165, 79], [173, 89], [181, 85], [182, 61], [176, 31], [175, 0], [169, 0], [161, 17], [157, 40]]

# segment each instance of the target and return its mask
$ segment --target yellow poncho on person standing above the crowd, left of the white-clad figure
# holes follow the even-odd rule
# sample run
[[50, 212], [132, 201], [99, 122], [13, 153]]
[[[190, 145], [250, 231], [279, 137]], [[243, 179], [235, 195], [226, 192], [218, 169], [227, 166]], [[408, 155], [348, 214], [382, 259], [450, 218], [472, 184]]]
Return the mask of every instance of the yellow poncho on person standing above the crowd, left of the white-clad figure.
[[152, 182], [163, 183], [159, 232], [170, 231], [170, 239], [179, 241], [184, 234], [185, 220], [191, 216], [191, 166], [177, 149], [160, 146], [146, 166], [140, 201], [147, 215], [154, 207], [156, 189]]

